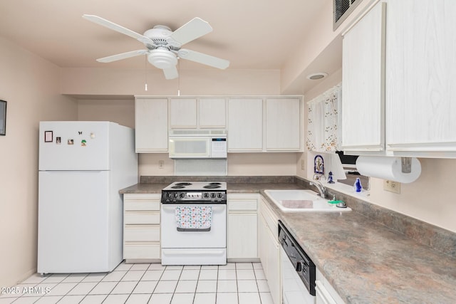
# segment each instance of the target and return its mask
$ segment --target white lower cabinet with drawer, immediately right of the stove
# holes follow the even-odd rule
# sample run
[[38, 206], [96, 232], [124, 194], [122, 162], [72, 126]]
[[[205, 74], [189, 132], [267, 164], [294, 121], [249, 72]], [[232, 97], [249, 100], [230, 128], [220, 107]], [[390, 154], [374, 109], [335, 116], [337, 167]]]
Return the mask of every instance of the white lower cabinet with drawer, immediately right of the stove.
[[257, 209], [259, 194], [228, 194], [227, 258], [258, 261]]

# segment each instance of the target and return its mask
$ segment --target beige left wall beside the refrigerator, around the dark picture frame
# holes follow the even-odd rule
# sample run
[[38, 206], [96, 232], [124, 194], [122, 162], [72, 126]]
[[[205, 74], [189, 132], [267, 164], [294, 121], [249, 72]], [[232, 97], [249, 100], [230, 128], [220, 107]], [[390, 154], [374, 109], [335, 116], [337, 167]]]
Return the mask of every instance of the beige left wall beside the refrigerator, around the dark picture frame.
[[0, 38], [0, 99], [7, 100], [0, 136], [0, 286], [36, 271], [38, 122], [76, 120], [77, 103], [60, 95], [61, 69]]

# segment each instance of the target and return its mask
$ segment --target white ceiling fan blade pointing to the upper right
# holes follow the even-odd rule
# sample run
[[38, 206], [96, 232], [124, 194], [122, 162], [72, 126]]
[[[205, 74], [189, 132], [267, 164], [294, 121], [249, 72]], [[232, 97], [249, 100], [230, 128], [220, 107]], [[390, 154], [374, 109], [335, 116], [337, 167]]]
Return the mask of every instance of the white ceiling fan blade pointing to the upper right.
[[172, 32], [172, 34], [167, 38], [167, 42], [172, 46], [180, 47], [185, 43], [195, 40], [196, 38], [204, 36], [210, 32], [212, 32], [212, 26], [210, 26], [206, 21], [196, 17]]

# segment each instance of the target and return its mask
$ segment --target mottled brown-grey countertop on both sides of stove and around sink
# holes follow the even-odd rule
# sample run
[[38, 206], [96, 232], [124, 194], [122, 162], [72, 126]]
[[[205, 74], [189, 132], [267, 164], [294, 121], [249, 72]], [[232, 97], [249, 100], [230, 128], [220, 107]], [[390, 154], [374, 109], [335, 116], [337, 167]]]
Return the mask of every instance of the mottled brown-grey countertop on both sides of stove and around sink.
[[[137, 184], [120, 193], [160, 193]], [[264, 189], [292, 183], [228, 183], [229, 193], [260, 193], [346, 303], [456, 303], [456, 258], [356, 211], [284, 212]]]

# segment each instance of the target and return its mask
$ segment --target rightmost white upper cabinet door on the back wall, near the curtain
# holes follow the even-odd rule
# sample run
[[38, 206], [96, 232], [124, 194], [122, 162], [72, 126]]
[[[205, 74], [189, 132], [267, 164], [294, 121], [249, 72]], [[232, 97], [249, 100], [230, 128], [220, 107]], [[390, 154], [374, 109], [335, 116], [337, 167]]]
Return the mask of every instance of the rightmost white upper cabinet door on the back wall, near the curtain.
[[301, 100], [266, 100], [266, 150], [301, 150]]

